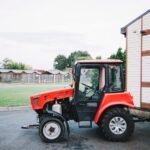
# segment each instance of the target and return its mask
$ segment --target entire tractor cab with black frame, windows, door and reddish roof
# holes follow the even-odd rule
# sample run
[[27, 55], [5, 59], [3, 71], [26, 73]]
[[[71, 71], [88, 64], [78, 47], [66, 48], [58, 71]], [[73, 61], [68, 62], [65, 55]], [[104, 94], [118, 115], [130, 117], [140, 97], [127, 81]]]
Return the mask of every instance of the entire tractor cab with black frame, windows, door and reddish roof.
[[120, 60], [78, 61], [73, 77], [77, 121], [92, 121], [104, 94], [124, 91]]

